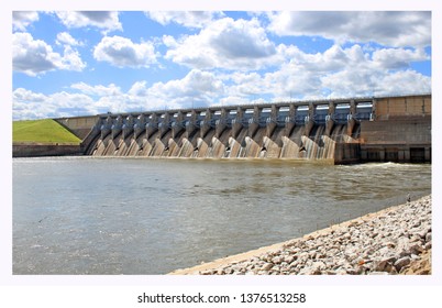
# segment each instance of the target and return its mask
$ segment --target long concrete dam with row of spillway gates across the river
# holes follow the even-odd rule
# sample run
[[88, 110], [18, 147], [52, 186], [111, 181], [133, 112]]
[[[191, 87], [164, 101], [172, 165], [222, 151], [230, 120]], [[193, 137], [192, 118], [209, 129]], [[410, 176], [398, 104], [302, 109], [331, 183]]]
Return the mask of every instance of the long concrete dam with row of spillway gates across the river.
[[56, 120], [93, 156], [431, 162], [431, 95]]

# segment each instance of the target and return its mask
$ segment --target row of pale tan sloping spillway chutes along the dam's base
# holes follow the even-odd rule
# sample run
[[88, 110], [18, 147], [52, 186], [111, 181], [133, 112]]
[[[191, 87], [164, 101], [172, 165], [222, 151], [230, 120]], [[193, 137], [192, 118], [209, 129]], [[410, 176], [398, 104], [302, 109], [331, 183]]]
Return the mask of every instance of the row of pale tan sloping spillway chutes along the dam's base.
[[[122, 118], [119, 118], [122, 121]], [[132, 119], [132, 118], [131, 118]], [[103, 120], [104, 121], [104, 120]], [[106, 121], [111, 122], [111, 119]], [[86, 154], [93, 156], [150, 156], [198, 158], [335, 160], [335, 144], [357, 143], [358, 125], [295, 125], [295, 123], [225, 125], [174, 129], [146, 128], [124, 131], [102, 129]], [[355, 147], [356, 148], [356, 147]], [[347, 158], [356, 157], [355, 154]]]

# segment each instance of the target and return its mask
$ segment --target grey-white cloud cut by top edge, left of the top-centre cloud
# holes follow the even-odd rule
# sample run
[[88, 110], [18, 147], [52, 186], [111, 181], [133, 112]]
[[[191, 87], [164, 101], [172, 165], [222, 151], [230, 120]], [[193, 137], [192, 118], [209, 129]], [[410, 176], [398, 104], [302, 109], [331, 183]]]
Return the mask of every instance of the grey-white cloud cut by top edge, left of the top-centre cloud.
[[109, 11], [60, 11], [56, 12], [62, 23], [67, 28], [98, 28], [108, 33], [123, 28], [119, 21], [118, 12]]

